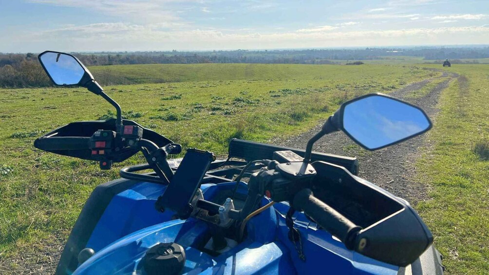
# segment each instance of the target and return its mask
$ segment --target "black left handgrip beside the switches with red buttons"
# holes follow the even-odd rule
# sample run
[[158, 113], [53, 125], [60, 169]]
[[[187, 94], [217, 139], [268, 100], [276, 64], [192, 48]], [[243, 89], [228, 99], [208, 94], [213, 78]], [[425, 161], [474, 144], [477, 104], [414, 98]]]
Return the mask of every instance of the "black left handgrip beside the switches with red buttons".
[[34, 141], [42, 150], [83, 150], [90, 148], [89, 137], [42, 137]]

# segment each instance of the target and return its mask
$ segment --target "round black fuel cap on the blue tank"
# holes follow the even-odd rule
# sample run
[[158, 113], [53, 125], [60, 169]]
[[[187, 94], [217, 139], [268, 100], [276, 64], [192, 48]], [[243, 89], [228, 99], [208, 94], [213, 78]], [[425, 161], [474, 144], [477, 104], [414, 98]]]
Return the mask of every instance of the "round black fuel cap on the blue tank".
[[178, 275], [185, 265], [185, 250], [177, 243], [158, 243], [146, 252], [141, 262], [148, 275]]

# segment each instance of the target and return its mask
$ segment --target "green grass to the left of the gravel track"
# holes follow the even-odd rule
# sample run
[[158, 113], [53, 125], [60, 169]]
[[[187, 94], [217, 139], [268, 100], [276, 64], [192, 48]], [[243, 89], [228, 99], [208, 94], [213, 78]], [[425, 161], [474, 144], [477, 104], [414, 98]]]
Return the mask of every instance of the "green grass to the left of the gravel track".
[[[298, 134], [347, 99], [388, 93], [432, 73], [384, 65], [197, 64], [164, 71], [167, 66], [146, 67], [155, 72], [148, 69], [137, 78], [153, 81], [143, 78], [172, 77], [173, 72], [179, 81], [192, 81], [105, 90], [125, 110], [124, 116], [184, 148], [218, 155], [225, 155], [234, 137], [271, 142]], [[145, 66], [123, 69], [136, 67]], [[201, 81], [205, 78], [209, 80]], [[109, 104], [84, 88], [0, 89], [0, 257], [43, 249], [53, 239], [64, 241], [94, 187], [117, 178], [119, 168], [143, 162], [138, 155], [101, 171], [96, 163], [32, 145], [42, 133], [69, 122], [112, 115]]]

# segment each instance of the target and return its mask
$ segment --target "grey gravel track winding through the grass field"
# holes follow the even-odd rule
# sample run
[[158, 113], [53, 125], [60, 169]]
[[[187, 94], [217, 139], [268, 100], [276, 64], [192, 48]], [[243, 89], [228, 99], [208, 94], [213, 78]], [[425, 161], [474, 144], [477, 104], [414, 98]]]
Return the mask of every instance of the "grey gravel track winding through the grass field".
[[[421, 98], [409, 98], [406, 95], [409, 92], [421, 89], [436, 78], [407, 85], [392, 92], [390, 95], [422, 107], [433, 120], [438, 112], [436, 105], [440, 92], [457, 76], [456, 74], [449, 75], [444, 72], [438, 78], [446, 78], [446, 80], [436, 85], [428, 94]], [[278, 143], [292, 148], [305, 148], [307, 141], [319, 131], [321, 126], [318, 125], [308, 132]], [[414, 180], [416, 174], [414, 162], [419, 156], [418, 149], [425, 145], [429, 145], [429, 140], [425, 140], [423, 134], [398, 145], [377, 151], [367, 151], [357, 146], [343, 132], [339, 131], [322, 137], [314, 144], [313, 150], [357, 157], [359, 163], [358, 175], [360, 177], [411, 203], [416, 203], [426, 199], [426, 186]]]

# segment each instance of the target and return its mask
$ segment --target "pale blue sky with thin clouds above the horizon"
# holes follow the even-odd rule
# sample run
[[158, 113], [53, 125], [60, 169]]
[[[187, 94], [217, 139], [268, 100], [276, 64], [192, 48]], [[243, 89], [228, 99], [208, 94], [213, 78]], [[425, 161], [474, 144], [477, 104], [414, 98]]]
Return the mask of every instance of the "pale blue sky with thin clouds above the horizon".
[[0, 52], [489, 44], [489, 0], [0, 0]]

